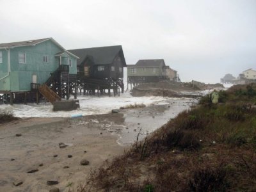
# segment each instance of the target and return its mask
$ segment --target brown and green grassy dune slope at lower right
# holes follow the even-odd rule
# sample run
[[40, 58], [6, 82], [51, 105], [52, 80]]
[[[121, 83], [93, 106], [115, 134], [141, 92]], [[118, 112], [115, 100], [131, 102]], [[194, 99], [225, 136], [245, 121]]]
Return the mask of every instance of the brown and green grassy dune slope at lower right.
[[88, 184], [106, 191], [256, 191], [256, 88], [234, 86], [183, 111]]

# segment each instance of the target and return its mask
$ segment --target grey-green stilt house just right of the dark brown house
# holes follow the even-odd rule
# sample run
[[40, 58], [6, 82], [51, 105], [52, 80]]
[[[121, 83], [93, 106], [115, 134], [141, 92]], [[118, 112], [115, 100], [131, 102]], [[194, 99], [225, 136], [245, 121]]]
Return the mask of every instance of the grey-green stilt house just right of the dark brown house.
[[[167, 70], [166, 70], [167, 69]], [[139, 60], [135, 65], [127, 65], [127, 77], [130, 83], [156, 82], [168, 79], [167, 67], [164, 60]], [[168, 71], [170, 72], [170, 71]], [[177, 72], [173, 71], [173, 77]], [[172, 76], [172, 74], [169, 74]]]

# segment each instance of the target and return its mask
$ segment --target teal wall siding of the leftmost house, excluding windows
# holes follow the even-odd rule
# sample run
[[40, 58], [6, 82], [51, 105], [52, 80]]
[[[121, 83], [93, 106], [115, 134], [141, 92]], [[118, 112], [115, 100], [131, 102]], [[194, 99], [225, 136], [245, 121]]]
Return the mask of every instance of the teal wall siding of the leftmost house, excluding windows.
[[[63, 50], [51, 40], [35, 46], [14, 47], [10, 49], [11, 72], [10, 80], [8, 81], [9, 90], [12, 92], [29, 91], [33, 75], [37, 76], [37, 83], [45, 83], [50, 77], [51, 72], [54, 72], [59, 67], [58, 57], [55, 54], [61, 51]], [[19, 63], [19, 53], [26, 54], [26, 63]], [[48, 56], [47, 63], [44, 62], [44, 56]], [[73, 56], [68, 57], [72, 60], [70, 74], [76, 74], [76, 58]], [[0, 79], [8, 74], [7, 51], [3, 51], [3, 61], [4, 63], [0, 64]], [[6, 89], [7, 85], [4, 86], [3, 84], [0, 81], [0, 90]]]

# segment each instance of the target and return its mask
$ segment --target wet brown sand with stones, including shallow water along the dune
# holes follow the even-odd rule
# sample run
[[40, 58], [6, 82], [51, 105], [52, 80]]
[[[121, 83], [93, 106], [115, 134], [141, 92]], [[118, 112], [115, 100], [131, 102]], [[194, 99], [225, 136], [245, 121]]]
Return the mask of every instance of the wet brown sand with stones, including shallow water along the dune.
[[[122, 109], [118, 114], [26, 118], [2, 124], [0, 191], [76, 189], [86, 182], [91, 169], [122, 154], [136, 140], [140, 129], [142, 139], [194, 102], [168, 100], [146, 108]], [[60, 143], [67, 147], [60, 148]], [[82, 159], [90, 164], [82, 166]], [[38, 171], [28, 173], [31, 170]], [[59, 184], [47, 186], [47, 180], [58, 180]], [[13, 182], [22, 184], [15, 186]]]

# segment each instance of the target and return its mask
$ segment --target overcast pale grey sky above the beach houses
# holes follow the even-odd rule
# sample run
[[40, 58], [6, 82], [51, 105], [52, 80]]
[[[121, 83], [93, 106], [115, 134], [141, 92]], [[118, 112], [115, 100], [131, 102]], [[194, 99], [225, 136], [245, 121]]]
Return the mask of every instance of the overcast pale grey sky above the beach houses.
[[256, 70], [256, 0], [0, 0], [0, 43], [52, 37], [65, 49], [122, 45], [182, 81]]

